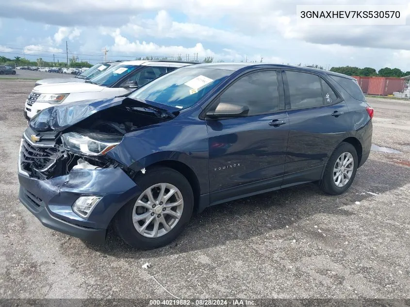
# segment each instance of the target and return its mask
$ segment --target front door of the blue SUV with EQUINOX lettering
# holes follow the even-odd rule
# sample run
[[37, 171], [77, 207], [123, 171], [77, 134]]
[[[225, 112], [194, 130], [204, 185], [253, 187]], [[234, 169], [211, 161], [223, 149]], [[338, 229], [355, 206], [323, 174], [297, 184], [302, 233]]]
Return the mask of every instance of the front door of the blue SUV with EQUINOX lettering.
[[280, 75], [263, 70], [241, 77], [212, 106], [231, 103], [249, 108], [246, 117], [206, 122], [210, 192], [225, 191], [211, 194], [212, 203], [238, 194], [238, 189], [249, 194], [280, 186], [289, 133], [288, 116], [279, 110], [283, 99]]

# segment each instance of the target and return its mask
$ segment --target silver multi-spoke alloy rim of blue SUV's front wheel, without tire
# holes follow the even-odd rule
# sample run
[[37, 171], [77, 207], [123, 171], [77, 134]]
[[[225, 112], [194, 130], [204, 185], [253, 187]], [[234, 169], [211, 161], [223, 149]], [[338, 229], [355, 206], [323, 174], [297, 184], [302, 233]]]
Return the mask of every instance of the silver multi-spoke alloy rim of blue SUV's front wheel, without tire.
[[158, 183], [138, 197], [132, 210], [132, 223], [144, 237], [161, 237], [177, 225], [182, 210], [180, 190], [170, 183]]

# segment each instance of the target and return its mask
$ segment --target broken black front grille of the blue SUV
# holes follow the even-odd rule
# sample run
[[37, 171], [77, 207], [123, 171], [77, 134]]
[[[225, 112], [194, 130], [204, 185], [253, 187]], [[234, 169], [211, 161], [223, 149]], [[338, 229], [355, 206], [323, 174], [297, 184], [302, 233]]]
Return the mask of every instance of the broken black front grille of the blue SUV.
[[59, 156], [56, 146], [36, 146], [24, 138], [21, 145], [20, 165], [29, 174], [43, 173], [53, 168]]

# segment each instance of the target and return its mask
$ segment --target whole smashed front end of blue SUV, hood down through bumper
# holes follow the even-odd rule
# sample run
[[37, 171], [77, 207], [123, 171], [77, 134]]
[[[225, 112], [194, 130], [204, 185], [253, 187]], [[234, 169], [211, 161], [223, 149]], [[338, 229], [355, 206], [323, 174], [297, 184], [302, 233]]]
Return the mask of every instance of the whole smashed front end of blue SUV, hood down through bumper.
[[142, 192], [133, 180], [139, 170], [107, 153], [128, 133], [177, 114], [127, 98], [43, 110], [21, 140], [21, 203], [44, 226], [104, 242], [116, 212]]

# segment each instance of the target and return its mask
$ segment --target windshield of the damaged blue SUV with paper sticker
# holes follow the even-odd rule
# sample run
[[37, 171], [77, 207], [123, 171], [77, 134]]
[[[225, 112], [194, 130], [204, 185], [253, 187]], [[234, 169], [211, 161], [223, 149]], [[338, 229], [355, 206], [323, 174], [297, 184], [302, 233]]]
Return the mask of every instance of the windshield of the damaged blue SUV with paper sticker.
[[231, 73], [231, 70], [215, 68], [180, 68], [148, 83], [128, 97], [185, 109], [197, 103]]

